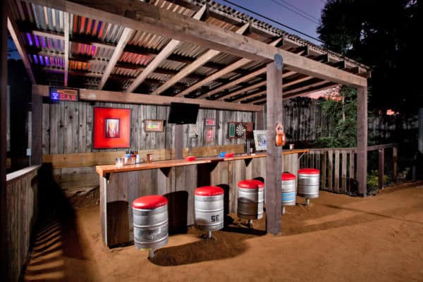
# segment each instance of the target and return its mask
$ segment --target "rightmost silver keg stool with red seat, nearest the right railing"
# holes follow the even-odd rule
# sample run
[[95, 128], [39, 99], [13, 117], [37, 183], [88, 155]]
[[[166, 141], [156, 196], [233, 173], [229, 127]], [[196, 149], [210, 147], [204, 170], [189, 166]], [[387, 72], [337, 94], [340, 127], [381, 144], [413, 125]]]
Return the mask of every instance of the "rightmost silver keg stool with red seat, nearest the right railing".
[[319, 197], [320, 171], [314, 168], [302, 168], [298, 171], [298, 196], [305, 197], [305, 204], [311, 198]]

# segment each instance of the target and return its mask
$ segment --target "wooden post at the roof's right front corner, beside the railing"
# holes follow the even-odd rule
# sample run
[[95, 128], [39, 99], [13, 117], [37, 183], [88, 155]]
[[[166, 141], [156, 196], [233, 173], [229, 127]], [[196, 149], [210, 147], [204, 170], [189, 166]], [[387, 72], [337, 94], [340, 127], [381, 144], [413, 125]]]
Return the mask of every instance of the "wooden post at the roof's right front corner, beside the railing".
[[357, 182], [358, 192], [367, 192], [367, 87], [357, 88]]

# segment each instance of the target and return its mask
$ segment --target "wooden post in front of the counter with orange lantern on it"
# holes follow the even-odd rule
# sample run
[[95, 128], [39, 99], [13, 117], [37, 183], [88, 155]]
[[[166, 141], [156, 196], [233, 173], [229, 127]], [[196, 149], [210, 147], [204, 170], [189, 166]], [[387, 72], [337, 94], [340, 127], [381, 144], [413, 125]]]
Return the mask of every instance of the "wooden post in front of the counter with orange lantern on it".
[[276, 124], [283, 123], [282, 69], [274, 62], [267, 65], [267, 158], [266, 158], [266, 231], [281, 232], [282, 147], [276, 147]]

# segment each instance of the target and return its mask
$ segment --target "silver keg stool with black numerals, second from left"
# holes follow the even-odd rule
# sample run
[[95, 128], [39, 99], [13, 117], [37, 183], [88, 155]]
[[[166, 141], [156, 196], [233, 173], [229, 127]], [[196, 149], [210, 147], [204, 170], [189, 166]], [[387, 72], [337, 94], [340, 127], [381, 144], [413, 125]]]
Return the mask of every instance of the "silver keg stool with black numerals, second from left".
[[194, 192], [195, 226], [201, 231], [212, 231], [223, 228], [223, 189], [217, 186], [203, 186]]

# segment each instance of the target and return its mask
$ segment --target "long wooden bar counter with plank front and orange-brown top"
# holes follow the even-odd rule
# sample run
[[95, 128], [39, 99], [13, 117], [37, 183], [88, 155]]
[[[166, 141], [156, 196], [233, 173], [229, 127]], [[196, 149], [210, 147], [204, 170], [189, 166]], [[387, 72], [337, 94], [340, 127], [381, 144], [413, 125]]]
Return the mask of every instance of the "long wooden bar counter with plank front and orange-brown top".
[[[284, 171], [297, 173], [298, 154], [284, 151]], [[236, 187], [240, 180], [266, 175], [266, 154], [238, 154], [231, 158], [201, 157], [195, 161], [176, 159], [150, 164], [96, 166], [100, 178], [100, 221], [105, 245], [133, 243], [132, 202], [145, 195], [168, 198], [169, 232], [185, 231], [194, 224], [194, 190], [218, 185], [225, 191], [225, 214], [237, 209]]]

